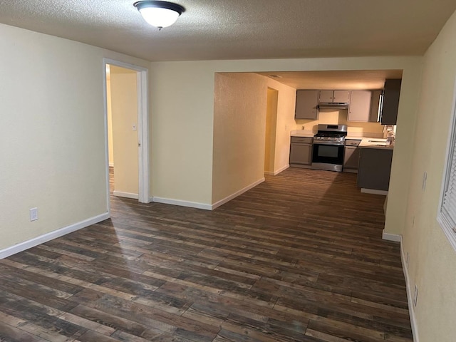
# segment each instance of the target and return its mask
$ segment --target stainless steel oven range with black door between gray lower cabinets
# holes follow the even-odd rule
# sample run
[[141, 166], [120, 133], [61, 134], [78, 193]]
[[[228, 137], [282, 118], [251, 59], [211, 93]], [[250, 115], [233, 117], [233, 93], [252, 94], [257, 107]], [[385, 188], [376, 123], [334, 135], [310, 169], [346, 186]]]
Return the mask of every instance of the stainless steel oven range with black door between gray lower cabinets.
[[346, 125], [318, 125], [311, 167], [341, 172], [346, 135]]

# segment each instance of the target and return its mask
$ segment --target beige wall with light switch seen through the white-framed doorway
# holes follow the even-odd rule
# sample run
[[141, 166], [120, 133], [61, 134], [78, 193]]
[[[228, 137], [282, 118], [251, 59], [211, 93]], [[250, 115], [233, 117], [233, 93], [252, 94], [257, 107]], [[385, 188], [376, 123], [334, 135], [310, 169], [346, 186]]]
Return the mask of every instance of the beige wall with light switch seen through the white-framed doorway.
[[[115, 195], [138, 195], [138, 87], [136, 71], [110, 66]], [[136, 130], [133, 130], [136, 125]]]

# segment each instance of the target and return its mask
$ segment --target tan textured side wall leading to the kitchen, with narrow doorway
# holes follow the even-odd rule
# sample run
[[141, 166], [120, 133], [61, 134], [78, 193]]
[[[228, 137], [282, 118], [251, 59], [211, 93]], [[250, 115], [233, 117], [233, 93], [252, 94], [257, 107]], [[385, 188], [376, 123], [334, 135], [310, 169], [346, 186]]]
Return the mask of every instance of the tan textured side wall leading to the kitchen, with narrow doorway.
[[[268, 99], [269, 91], [276, 95]], [[296, 89], [254, 73], [217, 73], [214, 99], [212, 204], [288, 166]], [[276, 112], [269, 125], [268, 107]]]

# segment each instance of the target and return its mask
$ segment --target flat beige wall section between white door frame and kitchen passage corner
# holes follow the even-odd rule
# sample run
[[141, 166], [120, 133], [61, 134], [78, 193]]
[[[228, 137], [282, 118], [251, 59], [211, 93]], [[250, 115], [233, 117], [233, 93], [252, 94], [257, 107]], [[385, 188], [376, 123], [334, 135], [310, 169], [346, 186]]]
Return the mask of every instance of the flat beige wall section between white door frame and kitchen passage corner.
[[152, 195], [210, 204], [213, 63], [152, 63], [150, 81]]

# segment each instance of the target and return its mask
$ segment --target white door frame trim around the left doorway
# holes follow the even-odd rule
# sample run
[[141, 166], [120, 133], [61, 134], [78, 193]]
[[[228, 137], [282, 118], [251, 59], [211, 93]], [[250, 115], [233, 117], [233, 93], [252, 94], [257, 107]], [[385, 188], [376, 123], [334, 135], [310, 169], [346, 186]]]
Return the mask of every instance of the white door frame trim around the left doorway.
[[106, 187], [108, 190], [108, 212], [109, 204], [109, 155], [108, 155], [108, 99], [106, 97], [106, 64], [120, 66], [122, 68], [136, 71], [138, 89], [138, 200], [142, 203], [150, 202], [149, 197], [149, 96], [148, 96], [148, 73], [147, 68], [135, 66], [130, 63], [115, 61], [110, 58], [103, 58], [103, 97], [105, 100], [105, 162], [106, 162]]

